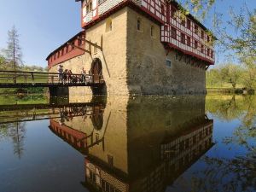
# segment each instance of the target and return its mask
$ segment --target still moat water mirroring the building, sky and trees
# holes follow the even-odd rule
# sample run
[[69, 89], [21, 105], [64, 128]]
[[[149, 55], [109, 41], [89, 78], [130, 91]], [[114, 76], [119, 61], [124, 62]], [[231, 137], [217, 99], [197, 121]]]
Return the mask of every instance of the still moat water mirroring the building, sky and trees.
[[256, 191], [256, 96], [30, 99], [0, 106], [0, 192]]

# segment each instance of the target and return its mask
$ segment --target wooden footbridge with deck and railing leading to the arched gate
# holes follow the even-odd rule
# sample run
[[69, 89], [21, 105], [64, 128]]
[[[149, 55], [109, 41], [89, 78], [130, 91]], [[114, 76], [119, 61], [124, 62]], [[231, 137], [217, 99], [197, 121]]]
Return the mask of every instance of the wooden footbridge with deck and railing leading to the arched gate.
[[73, 73], [44, 73], [0, 71], [0, 88], [99, 86], [104, 84], [102, 75]]

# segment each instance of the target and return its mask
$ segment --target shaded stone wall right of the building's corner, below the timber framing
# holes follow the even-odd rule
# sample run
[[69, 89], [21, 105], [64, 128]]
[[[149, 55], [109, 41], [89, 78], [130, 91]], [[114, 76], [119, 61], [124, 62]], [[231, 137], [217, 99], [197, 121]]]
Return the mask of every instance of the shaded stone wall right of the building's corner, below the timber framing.
[[[127, 67], [130, 94], [191, 94], [206, 92], [205, 70], [176, 60], [160, 42], [160, 26], [133, 9], [128, 9]], [[137, 30], [137, 19], [142, 30]], [[151, 27], [153, 26], [153, 36]], [[183, 57], [185, 58], [185, 57]], [[166, 67], [166, 59], [172, 61]]]

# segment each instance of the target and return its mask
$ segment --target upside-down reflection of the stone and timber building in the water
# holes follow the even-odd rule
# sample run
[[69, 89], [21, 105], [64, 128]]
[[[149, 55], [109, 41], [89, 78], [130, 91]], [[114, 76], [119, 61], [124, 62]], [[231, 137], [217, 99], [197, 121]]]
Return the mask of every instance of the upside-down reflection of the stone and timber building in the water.
[[90, 191], [165, 191], [213, 145], [204, 96], [108, 98], [84, 110], [49, 127], [84, 154]]

